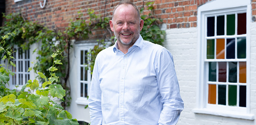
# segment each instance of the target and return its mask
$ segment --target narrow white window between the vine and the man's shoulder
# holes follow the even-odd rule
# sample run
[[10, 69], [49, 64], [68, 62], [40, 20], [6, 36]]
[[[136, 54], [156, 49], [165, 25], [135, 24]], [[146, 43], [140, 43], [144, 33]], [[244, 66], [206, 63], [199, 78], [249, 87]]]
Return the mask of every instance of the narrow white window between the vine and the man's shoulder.
[[76, 53], [76, 64], [77, 64], [77, 92], [78, 96], [76, 99], [77, 104], [87, 105], [88, 100], [87, 96], [89, 96], [89, 88], [91, 83], [91, 71], [89, 67], [87, 67], [88, 56], [87, 52], [93, 48], [94, 44], [77, 44], [75, 46]]

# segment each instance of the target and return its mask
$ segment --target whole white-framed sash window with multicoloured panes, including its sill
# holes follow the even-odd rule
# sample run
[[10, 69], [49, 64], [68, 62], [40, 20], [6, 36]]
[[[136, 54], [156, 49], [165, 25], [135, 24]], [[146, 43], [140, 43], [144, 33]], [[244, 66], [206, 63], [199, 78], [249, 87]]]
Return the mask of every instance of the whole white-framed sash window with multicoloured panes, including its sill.
[[215, 0], [200, 6], [197, 17], [200, 58], [193, 111], [253, 120], [249, 114], [250, 0]]

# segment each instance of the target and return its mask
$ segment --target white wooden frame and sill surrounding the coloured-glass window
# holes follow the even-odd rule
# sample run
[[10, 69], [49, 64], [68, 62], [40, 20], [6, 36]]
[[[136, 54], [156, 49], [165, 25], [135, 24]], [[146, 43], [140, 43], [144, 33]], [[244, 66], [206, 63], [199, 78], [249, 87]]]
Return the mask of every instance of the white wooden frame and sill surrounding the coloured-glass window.
[[[246, 107], [238, 107], [234, 110], [227, 109], [227, 106], [209, 106], [207, 80], [206, 57], [206, 17], [209, 15], [228, 14], [229, 12], [246, 12], [246, 62], [247, 62], [247, 85], [246, 85]], [[233, 117], [239, 119], [254, 120], [254, 115], [250, 114], [250, 21], [251, 21], [251, 1], [250, 0], [214, 0], [198, 7], [198, 50], [197, 50], [197, 106], [193, 109], [194, 113], [203, 113], [209, 115], [218, 115], [223, 117]], [[215, 29], [216, 32], [216, 29]]]

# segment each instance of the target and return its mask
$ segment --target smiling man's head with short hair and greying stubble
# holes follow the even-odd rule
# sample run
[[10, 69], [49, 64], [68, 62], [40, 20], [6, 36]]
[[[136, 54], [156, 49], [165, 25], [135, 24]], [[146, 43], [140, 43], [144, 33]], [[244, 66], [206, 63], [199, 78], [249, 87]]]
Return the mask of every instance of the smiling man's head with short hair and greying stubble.
[[132, 46], [139, 38], [143, 20], [139, 20], [137, 11], [132, 5], [120, 5], [115, 10], [110, 27], [117, 37], [117, 42], [125, 46]]

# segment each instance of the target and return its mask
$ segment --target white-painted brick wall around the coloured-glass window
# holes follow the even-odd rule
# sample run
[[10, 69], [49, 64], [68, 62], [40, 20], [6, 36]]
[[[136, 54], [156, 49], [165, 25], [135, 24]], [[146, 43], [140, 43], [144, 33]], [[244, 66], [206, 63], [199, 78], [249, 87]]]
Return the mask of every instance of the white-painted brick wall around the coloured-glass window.
[[[250, 112], [256, 116], [256, 23], [251, 24]], [[184, 110], [177, 125], [256, 125], [256, 120], [195, 114], [197, 79], [197, 28], [167, 29], [164, 42], [174, 57]]]

